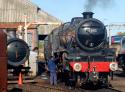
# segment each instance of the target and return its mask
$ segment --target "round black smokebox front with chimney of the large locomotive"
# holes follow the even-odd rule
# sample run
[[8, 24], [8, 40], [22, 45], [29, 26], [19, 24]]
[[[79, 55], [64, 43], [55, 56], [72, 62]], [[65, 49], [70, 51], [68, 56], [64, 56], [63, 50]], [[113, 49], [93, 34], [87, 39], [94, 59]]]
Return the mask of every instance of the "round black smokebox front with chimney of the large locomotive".
[[83, 15], [84, 19], [76, 29], [76, 41], [87, 52], [97, 52], [106, 42], [106, 28], [101, 21], [92, 18], [92, 12], [84, 12]]

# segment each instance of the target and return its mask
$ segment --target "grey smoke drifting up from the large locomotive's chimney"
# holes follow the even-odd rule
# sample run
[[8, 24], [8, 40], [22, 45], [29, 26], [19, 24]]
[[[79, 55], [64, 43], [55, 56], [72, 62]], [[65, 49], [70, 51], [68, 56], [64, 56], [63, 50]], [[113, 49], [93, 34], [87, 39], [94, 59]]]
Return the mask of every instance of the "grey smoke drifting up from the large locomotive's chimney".
[[101, 8], [105, 9], [111, 4], [113, 0], [86, 0], [85, 10], [92, 11], [97, 5], [100, 5]]

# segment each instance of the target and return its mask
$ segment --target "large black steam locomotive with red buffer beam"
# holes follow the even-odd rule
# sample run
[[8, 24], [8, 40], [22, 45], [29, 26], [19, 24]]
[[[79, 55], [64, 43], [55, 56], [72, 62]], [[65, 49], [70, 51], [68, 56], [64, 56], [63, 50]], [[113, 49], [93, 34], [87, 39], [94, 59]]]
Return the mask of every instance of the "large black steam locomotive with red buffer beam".
[[116, 71], [115, 49], [109, 48], [104, 24], [92, 12], [82, 13], [54, 29], [45, 39], [45, 58], [60, 57], [68, 67], [69, 80], [75, 84], [108, 84], [108, 76]]

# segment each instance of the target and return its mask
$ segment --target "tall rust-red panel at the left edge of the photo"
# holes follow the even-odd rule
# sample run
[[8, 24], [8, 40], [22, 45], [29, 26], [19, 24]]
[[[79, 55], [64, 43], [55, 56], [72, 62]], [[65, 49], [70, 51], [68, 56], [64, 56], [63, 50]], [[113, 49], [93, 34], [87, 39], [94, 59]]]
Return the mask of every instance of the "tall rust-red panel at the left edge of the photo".
[[7, 36], [0, 31], [0, 92], [7, 92]]

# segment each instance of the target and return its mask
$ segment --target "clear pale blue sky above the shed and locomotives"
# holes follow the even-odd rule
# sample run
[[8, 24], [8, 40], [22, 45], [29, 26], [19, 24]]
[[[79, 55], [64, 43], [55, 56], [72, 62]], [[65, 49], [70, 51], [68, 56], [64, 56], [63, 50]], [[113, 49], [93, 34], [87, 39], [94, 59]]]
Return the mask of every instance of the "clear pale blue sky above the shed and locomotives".
[[[125, 0], [32, 0], [32, 2], [63, 22], [69, 22], [73, 17], [81, 17], [81, 13], [85, 11], [92, 11], [93, 17], [105, 25], [125, 24]], [[125, 30], [111, 33], [114, 35], [118, 31]]]

